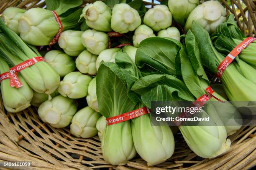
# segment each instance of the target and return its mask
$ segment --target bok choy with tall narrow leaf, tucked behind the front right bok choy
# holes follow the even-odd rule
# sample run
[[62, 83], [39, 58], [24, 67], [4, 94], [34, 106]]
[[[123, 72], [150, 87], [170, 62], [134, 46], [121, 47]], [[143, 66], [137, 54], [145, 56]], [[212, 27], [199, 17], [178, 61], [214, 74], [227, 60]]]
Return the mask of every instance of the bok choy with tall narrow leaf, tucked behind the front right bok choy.
[[[185, 45], [187, 54], [185, 54], [185, 51], [182, 51], [184, 54], [180, 55], [182, 78], [190, 92], [196, 98], [199, 98], [200, 96], [207, 94], [205, 89], [210, 85], [210, 81], [203, 69], [195, 36], [190, 30], [187, 32]], [[213, 92], [212, 95], [225, 102], [219, 102], [214, 97], [211, 97], [210, 102], [208, 102], [204, 107], [206, 108], [207, 113], [215, 119], [215, 122], [219, 122], [218, 125], [223, 124], [225, 126], [227, 135], [232, 135], [241, 128], [241, 115], [236, 111], [236, 107], [226, 101], [225, 98], [217, 92]]]

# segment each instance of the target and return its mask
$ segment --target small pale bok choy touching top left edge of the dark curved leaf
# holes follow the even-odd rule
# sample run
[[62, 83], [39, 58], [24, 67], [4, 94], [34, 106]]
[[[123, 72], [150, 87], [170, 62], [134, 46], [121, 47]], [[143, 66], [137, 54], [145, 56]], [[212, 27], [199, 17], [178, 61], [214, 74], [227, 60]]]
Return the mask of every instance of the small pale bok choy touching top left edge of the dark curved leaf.
[[134, 47], [138, 47], [142, 40], [145, 40], [148, 37], [155, 37], [154, 32], [147, 25], [140, 25], [136, 28], [133, 35], [133, 45]]

